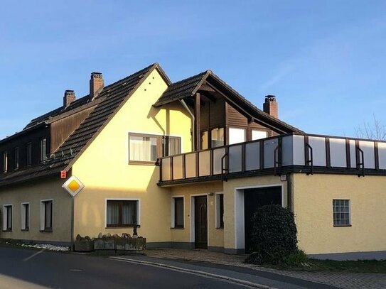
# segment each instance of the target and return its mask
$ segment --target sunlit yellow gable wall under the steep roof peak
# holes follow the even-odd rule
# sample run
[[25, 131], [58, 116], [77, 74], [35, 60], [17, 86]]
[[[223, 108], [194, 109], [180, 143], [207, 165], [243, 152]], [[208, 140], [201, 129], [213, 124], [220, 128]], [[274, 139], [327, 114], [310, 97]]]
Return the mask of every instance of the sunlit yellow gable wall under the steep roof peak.
[[75, 236], [132, 234], [132, 228], [105, 228], [105, 204], [107, 198], [139, 199], [139, 235], [170, 242], [171, 195], [156, 185], [159, 167], [128, 164], [129, 132], [181, 136], [182, 151], [191, 151], [191, 119], [181, 104], [152, 107], [166, 88], [159, 72], [151, 72], [73, 165], [85, 185], [75, 198]]

